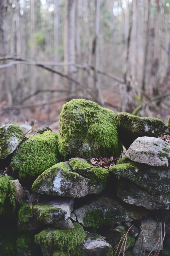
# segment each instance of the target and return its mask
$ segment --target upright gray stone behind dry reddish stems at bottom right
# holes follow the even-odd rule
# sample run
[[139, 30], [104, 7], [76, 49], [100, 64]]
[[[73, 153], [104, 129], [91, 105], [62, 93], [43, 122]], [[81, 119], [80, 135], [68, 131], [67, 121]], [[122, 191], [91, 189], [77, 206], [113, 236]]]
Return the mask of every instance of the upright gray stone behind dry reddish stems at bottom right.
[[[156, 251], [158, 248], [163, 250], [163, 244], [161, 245], [161, 241], [163, 237], [160, 239], [158, 243], [158, 239], [160, 236], [160, 229], [161, 229], [161, 223], [157, 223], [157, 221], [153, 220], [152, 218], [146, 218], [144, 220], [141, 220], [141, 228], [144, 232], [144, 236], [146, 239], [146, 251]], [[162, 236], [162, 231], [161, 231], [161, 236]], [[156, 244], [158, 245], [156, 246]], [[136, 240], [136, 243], [133, 248], [133, 253], [140, 253], [141, 252], [141, 247], [142, 251], [144, 251], [145, 248], [145, 243], [143, 243], [142, 246], [142, 232], [140, 231], [139, 237]]]

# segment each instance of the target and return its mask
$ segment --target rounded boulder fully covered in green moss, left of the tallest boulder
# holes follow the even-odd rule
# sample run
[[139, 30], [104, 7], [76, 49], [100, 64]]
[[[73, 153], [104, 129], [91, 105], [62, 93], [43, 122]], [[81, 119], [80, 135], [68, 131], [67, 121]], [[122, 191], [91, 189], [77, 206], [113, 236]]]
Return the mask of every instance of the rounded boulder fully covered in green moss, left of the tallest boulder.
[[58, 134], [46, 131], [30, 136], [12, 157], [11, 168], [19, 178], [37, 177], [58, 161]]

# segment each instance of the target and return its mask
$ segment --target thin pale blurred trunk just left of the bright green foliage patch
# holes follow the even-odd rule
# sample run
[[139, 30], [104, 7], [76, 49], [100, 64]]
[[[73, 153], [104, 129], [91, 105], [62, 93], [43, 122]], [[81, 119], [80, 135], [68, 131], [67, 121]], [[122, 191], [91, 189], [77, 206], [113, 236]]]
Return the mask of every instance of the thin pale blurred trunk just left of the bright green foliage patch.
[[[31, 0], [31, 59], [35, 59], [35, 11], [34, 0]], [[35, 68], [31, 67], [31, 91], [35, 92]], [[32, 99], [34, 100], [34, 99]]]

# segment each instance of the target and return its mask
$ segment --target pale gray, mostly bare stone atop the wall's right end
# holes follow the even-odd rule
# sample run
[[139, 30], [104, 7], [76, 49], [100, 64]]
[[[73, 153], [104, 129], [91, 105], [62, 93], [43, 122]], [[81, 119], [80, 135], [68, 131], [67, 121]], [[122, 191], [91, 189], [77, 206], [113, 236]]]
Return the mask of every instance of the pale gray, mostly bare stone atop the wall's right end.
[[125, 154], [134, 162], [155, 167], [170, 167], [170, 143], [160, 138], [138, 137]]

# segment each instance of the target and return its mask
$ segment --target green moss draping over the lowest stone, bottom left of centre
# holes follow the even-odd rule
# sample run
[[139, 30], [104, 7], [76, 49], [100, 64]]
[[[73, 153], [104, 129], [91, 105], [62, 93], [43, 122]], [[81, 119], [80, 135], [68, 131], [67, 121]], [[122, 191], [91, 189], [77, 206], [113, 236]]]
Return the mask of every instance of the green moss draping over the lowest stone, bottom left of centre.
[[76, 247], [83, 244], [86, 233], [78, 223], [73, 223], [74, 229], [44, 229], [35, 235], [35, 243], [46, 249], [60, 249], [71, 255]]

